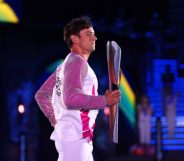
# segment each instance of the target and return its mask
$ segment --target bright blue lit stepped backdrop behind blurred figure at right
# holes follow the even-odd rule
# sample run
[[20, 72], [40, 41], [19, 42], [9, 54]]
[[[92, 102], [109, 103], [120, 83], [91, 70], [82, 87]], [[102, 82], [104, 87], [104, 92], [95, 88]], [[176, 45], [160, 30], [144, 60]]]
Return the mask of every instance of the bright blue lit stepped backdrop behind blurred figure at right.
[[[166, 65], [171, 67], [171, 72], [174, 73], [175, 81], [173, 82], [173, 88], [175, 91], [179, 92], [180, 95], [177, 100], [176, 112], [177, 116], [175, 118], [175, 129], [174, 136], [169, 138], [168, 128], [167, 128], [167, 119], [165, 117], [165, 112], [163, 109], [163, 95], [161, 94], [163, 83], [162, 83], [162, 74], [165, 73]], [[156, 120], [157, 117], [160, 117], [162, 122], [162, 149], [163, 150], [184, 150], [184, 79], [178, 77], [178, 66], [184, 68], [184, 64], [180, 66], [177, 60], [171, 59], [159, 59], [154, 60], [153, 62], [153, 83], [147, 83], [147, 95], [150, 97], [151, 103], [153, 104], [153, 115], [151, 118], [151, 144], [156, 144]], [[149, 74], [149, 73], [148, 73]]]

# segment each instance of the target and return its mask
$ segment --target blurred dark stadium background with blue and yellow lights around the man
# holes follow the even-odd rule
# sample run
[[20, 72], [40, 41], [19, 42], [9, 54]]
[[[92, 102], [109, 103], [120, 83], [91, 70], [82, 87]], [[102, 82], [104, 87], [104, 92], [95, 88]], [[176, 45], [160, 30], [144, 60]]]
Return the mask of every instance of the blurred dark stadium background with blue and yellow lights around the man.
[[[156, 150], [146, 155], [138, 148], [132, 150], [139, 143], [136, 105], [142, 94], [148, 95], [153, 104], [150, 144], [156, 147], [159, 117], [162, 159], [183, 161], [182, 0], [0, 0], [0, 160], [57, 160], [54, 143], [49, 140], [53, 129], [34, 94], [69, 52], [62, 37], [64, 25], [82, 15], [90, 16], [98, 38], [89, 63], [99, 80], [99, 94], [108, 88], [107, 41], [115, 40], [122, 49], [119, 143], [109, 141], [108, 114], [100, 111], [94, 138], [95, 161], [158, 160]], [[172, 87], [179, 92], [172, 139], [167, 134], [162, 104], [162, 77], [167, 65], [174, 76]], [[23, 113], [18, 111], [19, 105], [23, 105]]]

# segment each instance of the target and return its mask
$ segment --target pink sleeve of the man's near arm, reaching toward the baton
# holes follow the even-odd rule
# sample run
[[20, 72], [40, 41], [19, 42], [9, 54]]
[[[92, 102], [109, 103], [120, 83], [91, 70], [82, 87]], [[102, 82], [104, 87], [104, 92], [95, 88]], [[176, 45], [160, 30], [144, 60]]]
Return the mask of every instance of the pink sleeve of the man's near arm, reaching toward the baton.
[[82, 85], [87, 72], [87, 62], [80, 57], [75, 57], [65, 64], [63, 99], [68, 109], [90, 110], [105, 107], [105, 96], [91, 96], [83, 93]]

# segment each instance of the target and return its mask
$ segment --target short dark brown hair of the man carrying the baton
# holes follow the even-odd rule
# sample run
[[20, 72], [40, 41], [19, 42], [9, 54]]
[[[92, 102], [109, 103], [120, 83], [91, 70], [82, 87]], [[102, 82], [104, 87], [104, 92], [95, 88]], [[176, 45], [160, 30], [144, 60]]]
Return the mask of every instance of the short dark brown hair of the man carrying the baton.
[[64, 41], [67, 43], [68, 47], [71, 48], [73, 45], [72, 40], [70, 39], [71, 35], [79, 35], [80, 31], [86, 28], [93, 27], [92, 22], [89, 17], [82, 16], [80, 18], [72, 19], [64, 27]]

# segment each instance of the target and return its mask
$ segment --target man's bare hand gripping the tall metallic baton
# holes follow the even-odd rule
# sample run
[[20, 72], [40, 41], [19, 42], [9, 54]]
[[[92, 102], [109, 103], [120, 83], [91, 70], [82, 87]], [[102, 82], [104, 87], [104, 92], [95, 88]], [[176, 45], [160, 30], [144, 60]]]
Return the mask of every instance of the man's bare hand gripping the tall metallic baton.
[[109, 91], [107, 90], [105, 92], [105, 100], [106, 100], [106, 106], [113, 106], [120, 102], [121, 99], [121, 93], [120, 90], [114, 90]]

